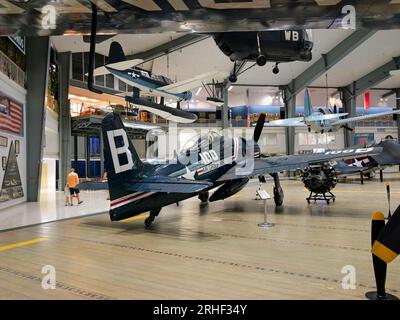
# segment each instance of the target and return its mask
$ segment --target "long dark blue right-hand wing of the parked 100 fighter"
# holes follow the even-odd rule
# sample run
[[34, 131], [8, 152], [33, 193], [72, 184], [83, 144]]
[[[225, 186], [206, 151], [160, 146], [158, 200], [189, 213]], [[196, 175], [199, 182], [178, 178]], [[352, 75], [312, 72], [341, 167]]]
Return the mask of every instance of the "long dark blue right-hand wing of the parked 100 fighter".
[[244, 177], [254, 177], [287, 170], [303, 169], [312, 164], [339, 161], [359, 156], [375, 155], [381, 147], [331, 150], [306, 155], [289, 155], [269, 158], [247, 159], [229, 169], [218, 181], [227, 181]]

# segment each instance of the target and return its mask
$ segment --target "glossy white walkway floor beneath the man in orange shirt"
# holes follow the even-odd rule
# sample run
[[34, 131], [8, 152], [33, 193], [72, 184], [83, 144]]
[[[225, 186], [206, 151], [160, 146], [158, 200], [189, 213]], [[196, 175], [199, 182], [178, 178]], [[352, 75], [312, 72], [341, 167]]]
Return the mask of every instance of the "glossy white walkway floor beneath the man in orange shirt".
[[108, 211], [106, 199], [105, 191], [82, 191], [83, 203], [77, 206], [74, 200], [74, 206], [66, 207], [64, 192], [46, 190], [41, 193], [38, 203], [23, 203], [0, 210], [0, 230]]

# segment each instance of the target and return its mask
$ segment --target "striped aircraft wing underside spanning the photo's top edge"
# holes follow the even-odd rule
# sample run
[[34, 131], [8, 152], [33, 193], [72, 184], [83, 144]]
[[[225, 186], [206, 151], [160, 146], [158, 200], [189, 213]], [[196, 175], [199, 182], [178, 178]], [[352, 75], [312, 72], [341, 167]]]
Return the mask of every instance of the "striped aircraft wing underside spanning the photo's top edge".
[[101, 12], [98, 31], [103, 34], [400, 27], [400, 7], [396, 1], [288, 3], [288, 0], [2, 0], [0, 34], [88, 34], [92, 4]]

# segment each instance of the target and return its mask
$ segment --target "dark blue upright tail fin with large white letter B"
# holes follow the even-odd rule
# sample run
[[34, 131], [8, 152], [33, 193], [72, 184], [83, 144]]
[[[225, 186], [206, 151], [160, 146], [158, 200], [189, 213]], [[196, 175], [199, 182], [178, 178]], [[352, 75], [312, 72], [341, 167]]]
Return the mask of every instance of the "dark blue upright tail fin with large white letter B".
[[144, 164], [140, 160], [120, 116], [109, 113], [102, 121], [104, 141], [104, 168], [107, 172], [110, 200], [124, 197], [132, 192], [124, 188], [128, 181], [143, 176]]

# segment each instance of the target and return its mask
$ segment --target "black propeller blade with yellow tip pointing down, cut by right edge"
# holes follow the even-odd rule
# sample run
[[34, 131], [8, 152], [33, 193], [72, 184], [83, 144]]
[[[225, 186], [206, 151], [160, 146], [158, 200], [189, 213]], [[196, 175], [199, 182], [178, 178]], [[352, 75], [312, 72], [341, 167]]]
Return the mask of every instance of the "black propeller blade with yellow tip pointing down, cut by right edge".
[[400, 206], [372, 246], [372, 253], [383, 261], [392, 262], [400, 253]]

